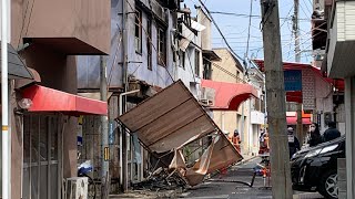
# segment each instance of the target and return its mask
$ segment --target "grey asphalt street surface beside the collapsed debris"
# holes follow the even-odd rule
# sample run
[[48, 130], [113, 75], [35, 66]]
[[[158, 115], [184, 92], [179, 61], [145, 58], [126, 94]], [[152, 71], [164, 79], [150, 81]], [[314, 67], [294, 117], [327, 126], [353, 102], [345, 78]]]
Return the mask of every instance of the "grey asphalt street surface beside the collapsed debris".
[[[272, 198], [268, 180], [256, 176], [253, 187], [250, 184], [253, 177], [253, 168], [260, 163], [255, 158], [242, 165], [233, 166], [226, 175], [220, 175], [196, 187], [190, 188], [181, 198], [186, 199], [262, 199]], [[266, 185], [266, 187], [264, 186]], [[294, 198], [323, 198], [318, 193], [295, 192]]]

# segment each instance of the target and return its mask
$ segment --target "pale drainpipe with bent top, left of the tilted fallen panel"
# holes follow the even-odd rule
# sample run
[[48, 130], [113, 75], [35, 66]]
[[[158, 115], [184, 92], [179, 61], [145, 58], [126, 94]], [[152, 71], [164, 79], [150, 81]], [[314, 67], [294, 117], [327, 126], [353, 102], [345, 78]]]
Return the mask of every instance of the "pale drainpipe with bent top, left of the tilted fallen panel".
[[[123, 96], [126, 96], [129, 94], [133, 94], [133, 93], [138, 93], [140, 92], [140, 90], [134, 90], [134, 91], [130, 91], [130, 92], [125, 92], [125, 93], [121, 93], [119, 96], [119, 115], [121, 116], [123, 114], [123, 106], [125, 106], [125, 101], [123, 103]], [[124, 108], [125, 109], [125, 108]], [[128, 133], [123, 134], [123, 132], [125, 132], [124, 127], [121, 127], [121, 133], [120, 133], [120, 185], [123, 185], [123, 135], [129, 136]], [[124, 157], [124, 163], [128, 163], [128, 156], [125, 153], [125, 157]], [[128, 169], [126, 167], [124, 167], [124, 174], [128, 174]], [[125, 180], [128, 180], [128, 178], [125, 177]], [[128, 189], [128, 184], [124, 184], [123, 190]]]

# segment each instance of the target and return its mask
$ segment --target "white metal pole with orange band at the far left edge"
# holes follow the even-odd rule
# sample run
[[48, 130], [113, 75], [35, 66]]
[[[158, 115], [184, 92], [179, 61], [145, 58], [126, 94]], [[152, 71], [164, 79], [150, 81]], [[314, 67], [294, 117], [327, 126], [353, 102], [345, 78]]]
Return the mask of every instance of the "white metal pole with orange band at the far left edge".
[[8, 82], [8, 0], [1, 0], [1, 113], [2, 113], [2, 198], [10, 199], [10, 130], [9, 130], [9, 82]]

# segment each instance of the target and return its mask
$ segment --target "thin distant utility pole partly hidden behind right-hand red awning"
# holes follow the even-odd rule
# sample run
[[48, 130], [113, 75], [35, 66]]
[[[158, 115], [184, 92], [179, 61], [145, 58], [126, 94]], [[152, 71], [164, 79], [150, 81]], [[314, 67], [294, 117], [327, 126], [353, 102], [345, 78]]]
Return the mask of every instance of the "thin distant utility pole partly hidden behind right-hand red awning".
[[[295, 35], [295, 62], [301, 62], [301, 49], [300, 49], [300, 25], [298, 25], [298, 8], [300, 0], [294, 0], [294, 14], [293, 14], [293, 33]], [[297, 103], [297, 137], [303, 143], [303, 124], [302, 124], [302, 103]]]

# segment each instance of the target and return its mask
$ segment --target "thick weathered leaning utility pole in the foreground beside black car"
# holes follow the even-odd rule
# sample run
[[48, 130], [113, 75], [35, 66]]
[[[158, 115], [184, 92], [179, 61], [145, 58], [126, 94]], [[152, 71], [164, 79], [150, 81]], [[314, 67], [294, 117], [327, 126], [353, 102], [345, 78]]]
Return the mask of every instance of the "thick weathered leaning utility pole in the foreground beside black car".
[[261, 0], [271, 176], [274, 199], [292, 198], [277, 0]]

